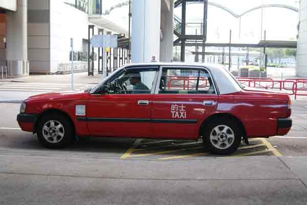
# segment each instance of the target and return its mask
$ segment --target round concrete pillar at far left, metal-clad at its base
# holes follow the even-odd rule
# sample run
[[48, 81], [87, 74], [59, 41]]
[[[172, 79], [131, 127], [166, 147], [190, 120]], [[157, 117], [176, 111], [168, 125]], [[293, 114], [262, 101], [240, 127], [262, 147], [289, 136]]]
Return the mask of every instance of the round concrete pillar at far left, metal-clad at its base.
[[27, 0], [17, 1], [16, 12], [8, 12], [7, 49], [9, 75], [27, 75]]

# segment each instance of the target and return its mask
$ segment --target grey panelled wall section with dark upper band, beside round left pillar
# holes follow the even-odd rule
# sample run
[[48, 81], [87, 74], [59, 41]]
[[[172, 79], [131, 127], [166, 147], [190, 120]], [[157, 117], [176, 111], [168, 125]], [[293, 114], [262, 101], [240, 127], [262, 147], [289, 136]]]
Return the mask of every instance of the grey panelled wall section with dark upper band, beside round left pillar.
[[50, 72], [50, 0], [28, 0], [28, 59], [30, 73]]

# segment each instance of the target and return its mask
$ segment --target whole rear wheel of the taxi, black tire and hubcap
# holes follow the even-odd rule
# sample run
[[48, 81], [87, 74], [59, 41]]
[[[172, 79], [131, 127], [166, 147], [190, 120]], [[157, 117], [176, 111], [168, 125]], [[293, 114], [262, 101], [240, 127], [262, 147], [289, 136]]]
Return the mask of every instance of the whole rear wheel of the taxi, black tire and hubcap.
[[216, 119], [203, 130], [203, 142], [213, 154], [227, 155], [235, 152], [241, 144], [243, 131], [235, 120]]

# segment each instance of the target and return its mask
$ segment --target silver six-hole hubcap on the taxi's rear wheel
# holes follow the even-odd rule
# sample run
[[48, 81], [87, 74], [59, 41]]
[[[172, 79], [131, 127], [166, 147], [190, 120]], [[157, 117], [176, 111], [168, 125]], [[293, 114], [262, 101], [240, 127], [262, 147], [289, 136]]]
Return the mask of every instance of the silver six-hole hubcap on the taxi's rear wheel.
[[217, 149], [227, 149], [234, 142], [234, 133], [232, 129], [226, 125], [219, 125], [213, 128], [210, 133], [211, 144]]

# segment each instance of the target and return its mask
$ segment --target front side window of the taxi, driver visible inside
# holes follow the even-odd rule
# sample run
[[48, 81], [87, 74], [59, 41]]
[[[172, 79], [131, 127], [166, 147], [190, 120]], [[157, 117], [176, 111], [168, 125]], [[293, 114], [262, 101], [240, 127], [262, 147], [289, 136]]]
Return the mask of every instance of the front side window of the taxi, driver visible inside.
[[107, 83], [107, 94], [150, 94], [156, 69], [129, 69]]

